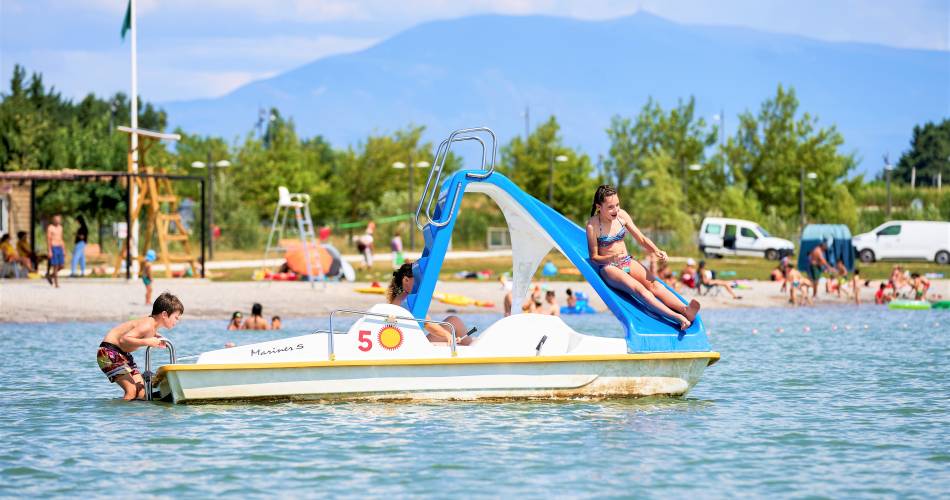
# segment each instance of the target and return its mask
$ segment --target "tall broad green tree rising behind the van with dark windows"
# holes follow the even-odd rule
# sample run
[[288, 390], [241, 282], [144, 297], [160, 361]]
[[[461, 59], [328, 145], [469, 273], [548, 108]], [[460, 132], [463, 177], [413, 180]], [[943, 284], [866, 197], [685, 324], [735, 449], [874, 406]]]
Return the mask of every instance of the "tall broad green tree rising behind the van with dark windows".
[[844, 184], [854, 156], [839, 152], [844, 138], [834, 126], [820, 127], [807, 112], [798, 117], [798, 105], [794, 89], [779, 85], [758, 115], [739, 116], [739, 129], [723, 151], [734, 184], [764, 210], [774, 207], [778, 216], [795, 220], [802, 172], [814, 173], [805, 179], [808, 220], [854, 227], [857, 211]]

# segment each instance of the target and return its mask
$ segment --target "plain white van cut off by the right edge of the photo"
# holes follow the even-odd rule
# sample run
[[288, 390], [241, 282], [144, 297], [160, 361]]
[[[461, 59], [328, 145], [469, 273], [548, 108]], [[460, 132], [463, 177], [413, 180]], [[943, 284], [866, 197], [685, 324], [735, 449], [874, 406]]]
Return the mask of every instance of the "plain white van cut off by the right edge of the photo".
[[861, 262], [900, 259], [950, 264], [950, 222], [892, 220], [851, 242]]

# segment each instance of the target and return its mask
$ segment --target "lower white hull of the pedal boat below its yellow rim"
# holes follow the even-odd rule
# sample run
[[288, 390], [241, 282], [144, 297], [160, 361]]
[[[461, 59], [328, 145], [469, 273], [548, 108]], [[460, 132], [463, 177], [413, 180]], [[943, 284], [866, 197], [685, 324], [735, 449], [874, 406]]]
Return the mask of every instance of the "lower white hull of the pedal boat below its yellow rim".
[[[686, 353], [687, 355], [692, 353]], [[715, 353], [669, 358], [511, 361], [401, 360], [396, 364], [298, 363], [286, 367], [203, 367], [164, 373], [163, 398], [220, 400], [477, 400], [683, 396]], [[652, 358], [652, 359], [651, 359]]]

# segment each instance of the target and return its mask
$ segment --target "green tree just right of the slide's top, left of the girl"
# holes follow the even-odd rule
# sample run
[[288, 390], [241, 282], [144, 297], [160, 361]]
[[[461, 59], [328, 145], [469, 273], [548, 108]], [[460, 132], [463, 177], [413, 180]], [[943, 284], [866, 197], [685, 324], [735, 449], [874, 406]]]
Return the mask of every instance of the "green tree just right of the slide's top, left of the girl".
[[[587, 219], [595, 185], [590, 158], [564, 145], [561, 126], [553, 116], [539, 125], [527, 141], [515, 137], [501, 150], [499, 171], [528, 194], [580, 222]], [[566, 161], [557, 161], [558, 156]]]

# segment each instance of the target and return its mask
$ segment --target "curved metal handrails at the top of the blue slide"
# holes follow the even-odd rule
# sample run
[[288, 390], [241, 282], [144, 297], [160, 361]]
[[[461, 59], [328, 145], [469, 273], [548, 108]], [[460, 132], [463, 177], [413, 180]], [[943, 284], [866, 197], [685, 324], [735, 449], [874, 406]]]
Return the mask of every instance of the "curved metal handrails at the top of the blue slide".
[[[485, 141], [477, 134], [486, 134], [491, 138], [491, 158], [487, 169], [485, 167], [486, 162], [489, 160], [488, 145], [486, 145]], [[484, 173], [469, 173], [469, 177], [484, 179], [495, 171], [495, 157], [498, 151], [498, 141], [495, 139], [495, 133], [491, 129], [487, 127], [475, 127], [460, 129], [452, 132], [448, 139], [442, 141], [442, 143], [439, 144], [439, 147], [436, 149], [432, 169], [429, 170], [429, 177], [426, 179], [425, 188], [422, 190], [422, 196], [419, 197], [419, 205], [416, 207], [415, 222], [416, 227], [418, 227], [420, 230], [424, 229], [425, 227], [425, 224], [423, 224], [421, 221], [421, 216], [423, 215], [423, 206], [425, 206], [425, 216], [428, 224], [432, 224], [436, 227], [443, 227], [452, 220], [453, 211], [455, 209], [455, 200], [458, 199], [459, 194], [458, 189], [456, 189], [455, 193], [456, 198], [453, 198], [449, 204], [449, 213], [442, 220], [434, 220], [432, 218], [432, 203], [437, 197], [439, 182], [442, 180], [442, 171], [445, 168], [445, 161], [448, 159], [449, 151], [452, 149], [452, 143], [464, 141], [476, 141], [479, 143], [479, 145], [481, 145], [481, 170], [486, 170]], [[428, 198], [428, 202], [426, 201], [426, 198]]]

